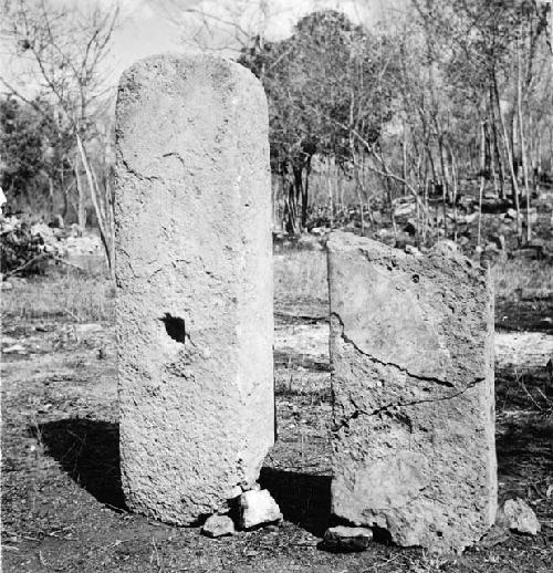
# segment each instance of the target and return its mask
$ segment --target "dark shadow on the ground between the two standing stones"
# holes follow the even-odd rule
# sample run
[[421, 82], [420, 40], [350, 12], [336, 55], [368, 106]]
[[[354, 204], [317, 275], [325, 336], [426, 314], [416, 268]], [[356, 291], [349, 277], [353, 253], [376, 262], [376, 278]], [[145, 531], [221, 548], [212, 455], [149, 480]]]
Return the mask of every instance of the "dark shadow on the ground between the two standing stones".
[[271, 492], [286, 521], [322, 536], [331, 520], [330, 476], [263, 468], [260, 486]]

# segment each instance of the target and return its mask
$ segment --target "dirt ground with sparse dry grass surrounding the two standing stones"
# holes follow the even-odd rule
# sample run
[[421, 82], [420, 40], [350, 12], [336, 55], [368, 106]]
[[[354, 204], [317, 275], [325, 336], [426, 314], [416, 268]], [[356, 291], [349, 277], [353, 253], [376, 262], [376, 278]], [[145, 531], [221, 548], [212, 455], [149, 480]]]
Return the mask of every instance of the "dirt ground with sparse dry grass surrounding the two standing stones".
[[[54, 283], [52, 288], [54, 288]], [[109, 312], [11, 312], [2, 338], [2, 558], [6, 572], [551, 572], [553, 570], [553, 296], [498, 300], [497, 448], [500, 500], [538, 514], [535, 536], [499, 532], [436, 558], [378, 540], [364, 553], [320, 542], [331, 522], [326, 303], [276, 298], [279, 440], [261, 482], [284, 522], [211, 540], [125, 510], [119, 482], [115, 341]], [[61, 303], [60, 303], [61, 304]], [[70, 311], [74, 314], [73, 311]], [[549, 319], [550, 322], [546, 320]]]

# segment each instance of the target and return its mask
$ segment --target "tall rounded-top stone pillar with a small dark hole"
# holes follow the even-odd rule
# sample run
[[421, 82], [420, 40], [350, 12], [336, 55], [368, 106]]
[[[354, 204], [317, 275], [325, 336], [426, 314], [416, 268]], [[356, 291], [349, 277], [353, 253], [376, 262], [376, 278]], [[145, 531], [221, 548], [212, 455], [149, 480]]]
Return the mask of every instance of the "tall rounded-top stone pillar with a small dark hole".
[[121, 465], [176, 524], [254, 486], [274, 440], [268, 110], [244, 67], [134, 64], [116, 110]]

